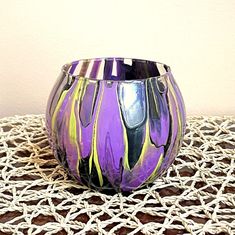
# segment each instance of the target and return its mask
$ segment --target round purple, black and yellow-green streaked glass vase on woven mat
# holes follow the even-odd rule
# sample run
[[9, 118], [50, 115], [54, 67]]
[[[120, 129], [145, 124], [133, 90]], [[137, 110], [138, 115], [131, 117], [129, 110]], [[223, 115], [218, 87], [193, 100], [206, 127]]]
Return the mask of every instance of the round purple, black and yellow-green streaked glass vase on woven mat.
[[174, 161], [185, 108], [170, 67], [126, 58], [66, 64], [50, 94], [46, 127], [60, 164], [91, 188], [132, 191]]

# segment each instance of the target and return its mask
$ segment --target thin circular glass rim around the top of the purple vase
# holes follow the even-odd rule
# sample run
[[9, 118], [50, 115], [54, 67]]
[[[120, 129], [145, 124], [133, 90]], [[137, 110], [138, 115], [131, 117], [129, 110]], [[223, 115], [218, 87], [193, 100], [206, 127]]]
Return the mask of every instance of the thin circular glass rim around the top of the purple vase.
[[[156, 64], [156, 67], [159, 71], [159, 68], [162, 68], [162, 70], [165, 71], [159, 71], [160, 75], [157, 76], [146, 76], [144, 78], [138, 78], [138, 79], [128, 79], [128, 80], [114, 80], [114, 79], [101, 79], [101, 78], [93, 78], [91, 76], [87, 76], [85, 75], [81, 75], [81, 74], [73, 74], [71, 73], [71, 67], [73, 65], [77, 65], [79, 62], [91, 62], [91, 61], [137, 61], [137, 62], [141, 62], [141, 63], [153, 63]], [[128, 62], [127, 62], [128, 63]], [[95, 57], [95, 58], [83, 58], [83, 59], [78, 59], [76, 61], [70, 62], [70, 63], [66, 63], [62, 66], [61, 71], [63, 73], [65, 73], [65, 75], [67, 77], [69, 77], [70, 79], [79, 79], [79, 78], [83, 78], [83, 79], [87, 79], [87, 80], [93, 80], [93, 81], [111, 81], [111, 82], [133, 82], [133, 81], [146, 81], [148, 79], [160, 79], [160, 78], [165, 78], [166, 76], [168, 76], [169, 74], [171, 74], [171, 68], [169, 65], [166, 65], [164, 63], [158, 62], [158, 61], [154, 61], [154, 60], [149, 60], [149, 59], [140, 59], [140, 58], [130, 58], [130, 57]]]

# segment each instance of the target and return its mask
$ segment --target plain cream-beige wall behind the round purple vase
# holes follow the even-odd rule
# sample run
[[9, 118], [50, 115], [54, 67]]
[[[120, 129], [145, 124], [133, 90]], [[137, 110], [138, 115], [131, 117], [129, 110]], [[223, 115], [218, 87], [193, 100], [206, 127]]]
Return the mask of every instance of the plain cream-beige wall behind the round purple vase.
[[235, 115], [235, 0], [0, 0], [0, 117], [45, 112], [66, 62], [171, 66], [187, 113]]

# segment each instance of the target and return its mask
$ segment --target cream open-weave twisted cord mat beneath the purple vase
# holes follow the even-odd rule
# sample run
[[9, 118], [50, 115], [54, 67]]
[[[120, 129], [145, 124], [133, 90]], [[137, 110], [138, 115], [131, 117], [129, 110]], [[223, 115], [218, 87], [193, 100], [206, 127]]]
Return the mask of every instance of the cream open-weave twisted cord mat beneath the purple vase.
[[0, 234], [233, 234], [235, 117], [189, 117], [167, 173], [131, 194], [68, 177], [43, 115], [0, 119]]

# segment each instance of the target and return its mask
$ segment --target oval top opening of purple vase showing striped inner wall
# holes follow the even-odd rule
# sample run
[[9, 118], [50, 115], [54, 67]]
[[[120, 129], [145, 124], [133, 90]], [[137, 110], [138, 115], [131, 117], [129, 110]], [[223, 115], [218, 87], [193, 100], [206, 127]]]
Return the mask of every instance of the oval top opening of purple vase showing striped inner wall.
[[72, 77], [91, 80], [130, 81], [164, 76], [170, 67], [150, 60], [130, 58], [81, 59], [63, 66]]

